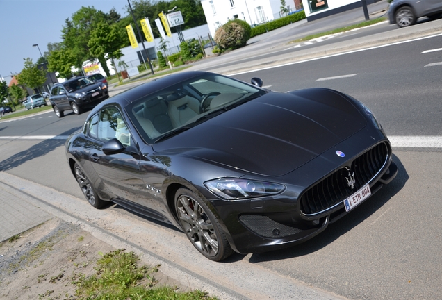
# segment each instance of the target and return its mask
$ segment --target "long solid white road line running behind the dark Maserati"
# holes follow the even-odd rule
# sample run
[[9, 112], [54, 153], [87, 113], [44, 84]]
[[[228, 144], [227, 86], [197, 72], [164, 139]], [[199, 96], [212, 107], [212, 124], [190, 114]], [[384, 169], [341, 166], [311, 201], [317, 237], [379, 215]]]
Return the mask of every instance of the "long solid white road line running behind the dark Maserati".
[[[69, 135], [24, 135], [0, 136], [0, 140], [66, 140]], [[441, 135], [391, 135], [388, 136], [393, 147], [403, 148], [442, 148]]]

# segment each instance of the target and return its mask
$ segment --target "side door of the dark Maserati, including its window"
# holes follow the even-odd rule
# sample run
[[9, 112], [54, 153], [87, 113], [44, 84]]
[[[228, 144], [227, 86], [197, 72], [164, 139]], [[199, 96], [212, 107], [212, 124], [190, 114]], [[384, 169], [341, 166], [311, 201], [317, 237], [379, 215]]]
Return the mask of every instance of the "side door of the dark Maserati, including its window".
[[[90, 162], [103, 188], [114, 199], [138, 203], [152, 209], [146, 200], [145, 183], [140, 173], [140, 155], [122, 113], [114, 106], [107, 106], [97, 115], [97, 125], [91, 135], [97, 133], [97, 147], [90, 150]], [[106, 155], [102, 147], [112, 139], [119, 140], [126, 149], [122, 153]]]

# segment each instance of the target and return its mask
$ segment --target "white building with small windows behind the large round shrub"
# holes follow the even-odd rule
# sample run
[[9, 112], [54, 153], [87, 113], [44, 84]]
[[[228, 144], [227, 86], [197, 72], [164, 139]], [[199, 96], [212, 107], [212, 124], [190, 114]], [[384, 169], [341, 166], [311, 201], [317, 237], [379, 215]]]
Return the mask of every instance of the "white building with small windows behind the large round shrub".
[[[281, 0], [201, 0], [211, 35], [230, 19], [242, 19], [250, 25], [279, 19]], [[294, 11], [295, 0], [286, 0], [288, 11]]]

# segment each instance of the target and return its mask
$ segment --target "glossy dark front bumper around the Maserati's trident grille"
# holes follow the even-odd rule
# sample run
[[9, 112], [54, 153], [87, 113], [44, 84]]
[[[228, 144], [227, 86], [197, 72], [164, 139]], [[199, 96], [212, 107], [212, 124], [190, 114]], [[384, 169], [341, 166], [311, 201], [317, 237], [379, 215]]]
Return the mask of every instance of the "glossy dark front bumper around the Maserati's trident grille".
[[[355, 143], [359, 147], [353, 147], [354, 149], [345, 147], [346, 144], [348, 146]], [[231, 202], [220, 199], [211, 201], [219, 218], [223, 220], [224, 230], [229, 233], [231, 247], [238, 253], [256, 253], [290, 247], [315, 237], [329, 224], [346, 215], [343, 201], [350, 195], [312, 215], [306, 215], [302, 211], [300, 197], [311, 186], [331, 176], [330, 174], [334, 174], [349, 161], [353, 162], [367, 153], [369, 151], [367, 149], [374, 148], [375, 146], [370, 143], [373, 142], [366, 138], [366, 133], [357, 133], [322, 154], [316, 162], [308, 163], [286, 176], [275, 178], [275, 182], [287, 186], [286, 191], [277, 196], [247, 201]], [[375, 172], [374, 177], [368, 181], [372, 195], [383, 185], [390, 183], [398, 174], [398, 167], [391, 160], [391, 147], [384, 135], [379, 136], [377, 141], [377, 144], [383, 143], [388, 146], [388, 156], [379, 172]], [[349, 154], [350, 159], [343, 165], [336, 165], [336, 161], [340, 159], [334, 153], [337, 149], [347, 149], [345, 153]], [[316, 172], [309, 174], [311, 170]], [[354, 189], [356, 190], [357, 188]]]

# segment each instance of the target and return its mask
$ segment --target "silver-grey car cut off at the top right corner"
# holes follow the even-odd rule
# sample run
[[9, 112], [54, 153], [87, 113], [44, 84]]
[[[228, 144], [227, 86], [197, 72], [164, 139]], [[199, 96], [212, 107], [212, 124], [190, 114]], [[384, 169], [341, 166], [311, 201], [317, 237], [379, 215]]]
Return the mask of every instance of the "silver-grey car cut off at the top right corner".
[[420, 17], [441, 17], [441, 0], [393, 0], [388, 7], [390, 24], [406, 27], [416, 23]]

